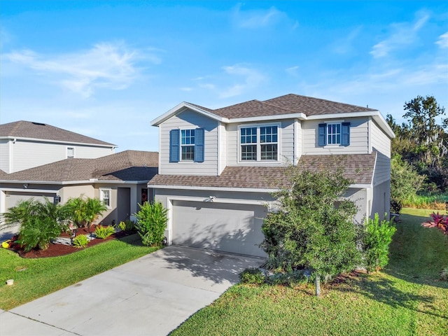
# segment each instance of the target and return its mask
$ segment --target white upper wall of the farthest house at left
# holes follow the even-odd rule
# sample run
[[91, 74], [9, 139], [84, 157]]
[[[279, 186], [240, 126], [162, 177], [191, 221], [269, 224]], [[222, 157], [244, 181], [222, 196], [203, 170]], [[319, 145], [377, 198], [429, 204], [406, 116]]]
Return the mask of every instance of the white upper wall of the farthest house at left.
[[51, 144], [43, 141], [21, 141], [18, 139], [15, 144], [10, 146], [10, 160], [13, 160], [11, 172], [65, 160], [67, 147], [75, 148], [75, 158], [92, 159], [113, 154], [111, 148]]

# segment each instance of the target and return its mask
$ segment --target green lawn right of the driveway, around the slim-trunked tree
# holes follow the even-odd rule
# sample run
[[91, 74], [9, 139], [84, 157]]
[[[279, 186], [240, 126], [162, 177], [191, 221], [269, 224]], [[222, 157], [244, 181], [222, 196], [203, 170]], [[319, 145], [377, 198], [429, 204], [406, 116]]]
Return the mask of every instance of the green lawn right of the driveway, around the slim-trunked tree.
[[447, 335], [448, 237], [403, 209], [384, 272], [327, 286], [233, 286], [172, 335]]

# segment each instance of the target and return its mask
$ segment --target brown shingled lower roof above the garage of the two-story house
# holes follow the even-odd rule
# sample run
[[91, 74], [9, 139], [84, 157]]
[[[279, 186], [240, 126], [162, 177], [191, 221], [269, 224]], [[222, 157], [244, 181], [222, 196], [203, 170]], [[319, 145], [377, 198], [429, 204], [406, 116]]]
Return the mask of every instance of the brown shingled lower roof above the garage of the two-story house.
[[[299, 164], [311, 171], [344, 167], [344, 177], [354, 184], [371, 184], [377, 152], [353, 155], [303, 155]], [[179, 188], [275, 189], [284, 186], [287, 167], [225, 167], [220, 176], [156, 175], [148, 186]]]

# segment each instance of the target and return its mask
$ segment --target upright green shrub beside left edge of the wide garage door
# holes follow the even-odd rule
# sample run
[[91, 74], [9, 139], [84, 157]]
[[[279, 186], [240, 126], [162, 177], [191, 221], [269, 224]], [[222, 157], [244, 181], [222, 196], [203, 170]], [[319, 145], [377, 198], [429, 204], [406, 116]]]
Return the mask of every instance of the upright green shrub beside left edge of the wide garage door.
[[160, 202], [140, 205], [136, 228], [145, 246], [161, 246], [167, 228], [168, 210]]

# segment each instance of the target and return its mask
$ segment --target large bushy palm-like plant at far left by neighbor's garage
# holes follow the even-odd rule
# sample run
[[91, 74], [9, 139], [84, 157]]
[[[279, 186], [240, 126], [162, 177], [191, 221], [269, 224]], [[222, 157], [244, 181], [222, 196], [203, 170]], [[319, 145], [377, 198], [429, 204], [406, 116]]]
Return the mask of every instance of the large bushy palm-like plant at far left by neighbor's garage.
[[2, 216], [2, 227], [19, 224], [18, 243], [25, 251], [33, 248], [44, 250], [50, 240], [60, 235], [66, 225], [66, 213], [59, 204], [49, 200], [38, 202], [26, 200], [6, 211]]

